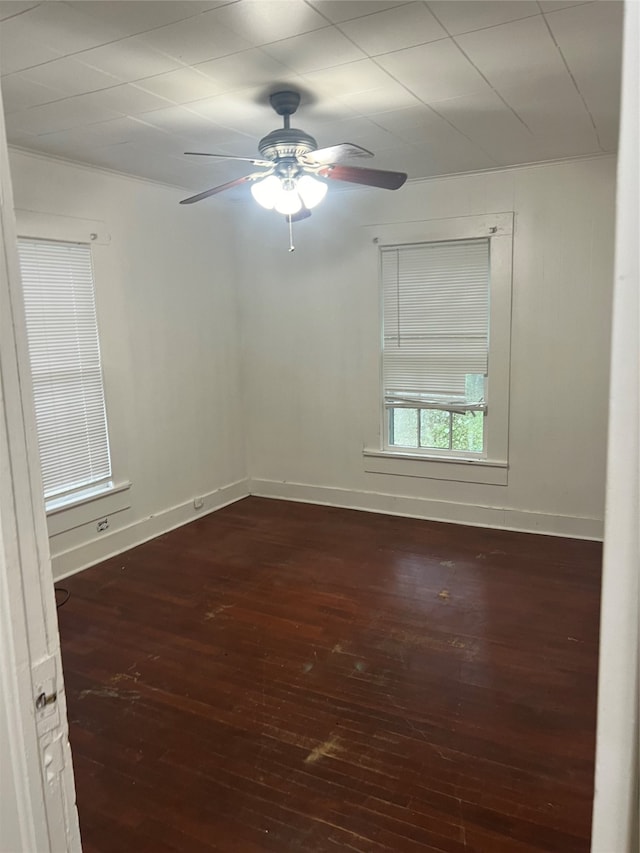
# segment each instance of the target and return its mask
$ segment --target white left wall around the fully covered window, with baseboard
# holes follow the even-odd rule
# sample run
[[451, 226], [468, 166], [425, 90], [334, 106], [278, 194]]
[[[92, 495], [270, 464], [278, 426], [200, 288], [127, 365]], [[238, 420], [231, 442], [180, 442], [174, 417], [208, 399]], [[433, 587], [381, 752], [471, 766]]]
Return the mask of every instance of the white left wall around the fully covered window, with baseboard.
[[[116, 479], [128, 509], [50, 517], [54, 575], [125, 550], [246, 494], [233, 231], [179, 190], [12, 152], [15, 206], [98, 220], [96, 299]], [[69, 517], [72, 516], [71, 522]], [[109, 529], [97, 534], [96, 517]]]

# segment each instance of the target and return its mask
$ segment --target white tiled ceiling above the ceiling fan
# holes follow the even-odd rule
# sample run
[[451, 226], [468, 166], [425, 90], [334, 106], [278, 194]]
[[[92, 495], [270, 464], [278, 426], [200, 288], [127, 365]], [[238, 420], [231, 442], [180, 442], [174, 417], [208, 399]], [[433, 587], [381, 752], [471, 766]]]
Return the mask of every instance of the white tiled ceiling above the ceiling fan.
[[[281, 126], [410, 178], [615, 151], [616, 0], [0, 2], [10, 143], [203, 189]], [[251, 168], [251, 167], [250, 167]]]

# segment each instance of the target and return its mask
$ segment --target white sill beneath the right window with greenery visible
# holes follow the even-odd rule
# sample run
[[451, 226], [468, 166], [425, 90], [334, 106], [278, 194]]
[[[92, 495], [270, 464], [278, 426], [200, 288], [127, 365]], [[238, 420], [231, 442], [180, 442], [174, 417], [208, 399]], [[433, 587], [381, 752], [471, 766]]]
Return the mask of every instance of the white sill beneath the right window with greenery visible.
[[396, 477], [423, 477], [431, 480], [453, 480], [460, 483], [484, 483], [506, 486], [509, 465], [495, 459], [461, 459], [447, 456], [424, 456], [388, 450], [363, 450], [364, 470], [369, 474]]

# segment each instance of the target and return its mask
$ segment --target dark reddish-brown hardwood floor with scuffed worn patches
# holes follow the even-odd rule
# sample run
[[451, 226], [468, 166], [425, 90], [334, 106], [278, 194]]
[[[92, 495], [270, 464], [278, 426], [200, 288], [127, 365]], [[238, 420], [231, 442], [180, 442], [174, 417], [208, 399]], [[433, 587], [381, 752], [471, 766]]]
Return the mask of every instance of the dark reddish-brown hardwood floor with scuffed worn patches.
[[247, 498], [67, 579], [85, 853], [586, 853], [600, 558]]

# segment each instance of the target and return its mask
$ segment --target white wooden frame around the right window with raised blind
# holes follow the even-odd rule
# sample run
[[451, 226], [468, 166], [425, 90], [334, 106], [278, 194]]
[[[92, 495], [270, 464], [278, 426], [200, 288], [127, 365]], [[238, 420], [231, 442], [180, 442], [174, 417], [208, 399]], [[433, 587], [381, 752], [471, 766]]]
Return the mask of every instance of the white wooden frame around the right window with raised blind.
[[[377, 441], [370, 437], [363, 450], [365, 471], [400, 476], [484, 482], [506, 485], [509, 450], [509, 384], [511, 355], [511, 291], [513, 212], [423, 220], [370, 226], [366, 230], [376, 254], [379, 319], [379, 423]], [[489, 354], [486, 379], [485, 445], [482, 454], [400, 448], [388, 442], [389, 407], [382, 377], [383, 323], [381, 246], [489, 238]], [[416, 407], [420, 408], [420, 407]], [[424, 407], [428, 408], [428, 407]]]

